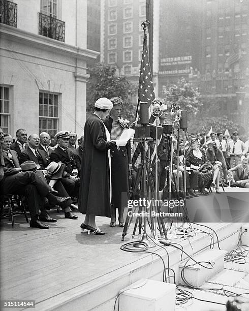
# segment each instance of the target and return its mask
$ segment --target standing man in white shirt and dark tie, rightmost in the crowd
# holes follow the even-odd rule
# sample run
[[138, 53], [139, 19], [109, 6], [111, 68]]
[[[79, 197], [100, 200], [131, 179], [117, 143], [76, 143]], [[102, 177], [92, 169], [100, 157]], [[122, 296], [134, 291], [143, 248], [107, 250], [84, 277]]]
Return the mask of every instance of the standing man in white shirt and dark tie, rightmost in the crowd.
[[246, 147], [244, 143], [238, 139], [238, 132], [235, 131], [232, 134], [232, 140], [229, 141], [229, 152], [230, 152], [230, 167], [235, 167], [241, 163], [241, 157], [246, 153]]

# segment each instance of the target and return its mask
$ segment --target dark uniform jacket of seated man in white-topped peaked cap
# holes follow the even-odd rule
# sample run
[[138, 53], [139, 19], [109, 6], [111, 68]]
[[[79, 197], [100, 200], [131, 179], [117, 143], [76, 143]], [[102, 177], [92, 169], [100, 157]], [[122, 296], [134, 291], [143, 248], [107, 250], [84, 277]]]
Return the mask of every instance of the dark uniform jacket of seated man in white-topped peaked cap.
[[59, 146], [55, 148], [50, 154], [50, 161], [58, 163], [61, 161], [66, 165], [65, 171], [70, 175], [78, 175], [77, 165], [74, 160], [73, 152], [70, 149], [67, 149], [65, 152]]

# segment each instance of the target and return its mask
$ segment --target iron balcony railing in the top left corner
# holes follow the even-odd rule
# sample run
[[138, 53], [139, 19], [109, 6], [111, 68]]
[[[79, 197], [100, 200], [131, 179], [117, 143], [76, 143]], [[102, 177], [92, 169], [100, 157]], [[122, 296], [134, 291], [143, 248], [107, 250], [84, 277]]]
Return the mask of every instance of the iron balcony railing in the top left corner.
[[0, 0], [0, 23], [17, 27], [17, 4]]

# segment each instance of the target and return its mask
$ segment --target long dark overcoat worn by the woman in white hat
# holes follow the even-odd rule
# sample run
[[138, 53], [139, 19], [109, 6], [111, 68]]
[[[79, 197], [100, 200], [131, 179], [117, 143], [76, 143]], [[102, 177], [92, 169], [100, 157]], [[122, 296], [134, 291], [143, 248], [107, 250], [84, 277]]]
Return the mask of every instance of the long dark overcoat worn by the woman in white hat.
[[106, 132], [92, 113], [85, 122], [78, 209], [82, 214], [111, 216], [110, 169]]

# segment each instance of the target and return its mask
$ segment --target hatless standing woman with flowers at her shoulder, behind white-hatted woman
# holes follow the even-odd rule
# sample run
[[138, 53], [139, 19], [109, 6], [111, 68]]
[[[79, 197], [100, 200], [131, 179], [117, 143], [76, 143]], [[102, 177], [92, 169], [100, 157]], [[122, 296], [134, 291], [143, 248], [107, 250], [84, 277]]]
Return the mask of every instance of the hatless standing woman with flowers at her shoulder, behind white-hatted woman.
[[[119, 118], [123, 101], [118, 97], [111, 98], [110, 101], [113, 108], [104, 123], [110, 132], [111, 140], [115, 140], [120, 138], [123, 130], [128, 128], [128, 125], [124, 119]], [[129, 195], [129, 166], [132, 166], [130, 140], [126, 146], [120, 146], [119, 150], [115, 146], [111, 149], [111, 227], [116, 226], [116, 208], [118, 209], [119, 227], [124, 226], [123, 210]]]

